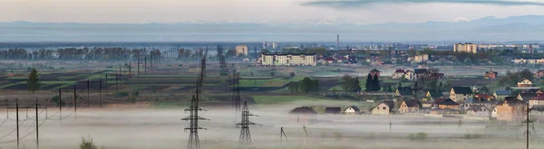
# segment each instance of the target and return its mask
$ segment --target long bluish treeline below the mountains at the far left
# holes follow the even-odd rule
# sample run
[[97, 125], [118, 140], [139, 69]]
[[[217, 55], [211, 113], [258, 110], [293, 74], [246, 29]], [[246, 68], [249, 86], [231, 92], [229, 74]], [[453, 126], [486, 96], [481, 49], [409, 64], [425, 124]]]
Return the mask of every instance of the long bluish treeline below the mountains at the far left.
[[164, 57], [177, 59], [199, 59], [204, 55], [203, 50], [169, 50], [158, 49], [125, 49], [121, 47], [95, 47], [95, 48], [63, 48], [63, 49], [40, 49], [28, 51], [21, 48], [0, 50], [0, 59], [3, 60], [137, 60], [148, 59], [159, 61]]

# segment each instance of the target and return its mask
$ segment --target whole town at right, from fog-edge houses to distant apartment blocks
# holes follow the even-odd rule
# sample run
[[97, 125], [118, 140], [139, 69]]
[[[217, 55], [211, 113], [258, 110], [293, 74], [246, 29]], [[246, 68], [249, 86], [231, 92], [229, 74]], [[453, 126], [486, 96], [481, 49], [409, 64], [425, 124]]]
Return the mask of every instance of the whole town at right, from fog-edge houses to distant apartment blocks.
[[[533, 47], [534, 46], [532, 45], [527, 47], [529, 49], [529, 53], [533, 52]], [[454, 45], [451, 53], [469, 55], [478, 54], [480, 52], [478, 49], [478, 45], [474, 43], [458, 43]], [[395, 54], [406, 53], [396, 52]], [[353, 54], [345, 54], [343, 57], [324, 57], [322, 55], [315, 56], [314, 54], [284, 55], [286, 54], [263, 54], [262, 61], [260, 62], [262, 65], [287, 66], [292, 66], [292, 63], [294, 62], [298, 62], [295, 65], [301, 66], [329, 65], [335, 63], [360, 63], [357, 62], [360, 61], [356, 59], [357, 56], [352, 56]], [[293, 57], [300, 57], [300, 59], [296, 61], [289, 61], [293, 60]], [[451, 55], [451, 57], [454, 56]], [[314, 60], [315, 62], [310, 62], [307, 60]], [[389, 60], [394, 61], [394, 59]], [[310, 115], [323, 113], [333, 115], [372, 116], [450, 116], [468, 119], [520, 122], [525, 120], [527, 111], [529, 110], [531, 118], [539, 119], [540, 121], [544, 120], [544, 91], [539, 87], [539, 82], [537, 83], [538, 85], [533, 85], [533, 81], [540, 81], [540, 78], [544, 77], [544, 70], [523, 70], [523, 72], [509, 71], [500, 73], [494, 70], [489, 70], [481, 72], [481, 79], [489, 80], [487, 82], [490, 84], [491, 82], [500, 82], [500, 84], [506, 85], [506, 88], [490, 90], [490, 88], [486, 87], [488, 84], [478, 83], [477, 85], [476, 82], [473, 82], [473, 86], [470, 85], [471, 82], [453, 82], [451, 85], [449, 85], [449, 87], [445, 88], [442, 85], [442, 80], [447, 77], [443, 72], [440, 72], [439, 69], [431, 68], [431, 65], [436, 65], [439, 62], [436, 61], [436, 59], [435, 61], [431, 60], [431, 54], [416, 54], [413, 57], [407, 58], [407, 61], [415, 62], [417, 64], [416, 69], [396, 69], [393, 74], [391, 74], [391, 79], [398, 80], [399, 86], [393, 89], [393, 98], [384, 98], [384, 101], [374, 103], [374, 107], [325, 107], [324, 112], [317, 112], [312, 107], [297, 107], [290, 113]], [[466, 62], [472, 61], [471, 58], [468, 58], [467, 60], [468, 61]], [[273, 63], [272, 61], [277, 61], [277, 63]], [[374, 65], [374, 67], [395, 66], [395, 64], [393, 64], [391, 61], [378, 61], [378, 59], [368, 59], [365, 60], [364, 63], [370, 66]], [[493, 64], [493, 61], [489, 62]], [[540, 64], [544, 63], [544, 59], [513, 58], [511, 59], [511, 62], [514, 62], [515, 64]], [[448, 63], [448, 61], [446, 61], [446, 63]], [[449, 63], [454, 64], [456, 62], [449, 61]], [[379, 70], [375, 69], [369, 72], [369, 77], [374, 77], [375, 71], [378, 71], [377, 76], [379, 77], [380, 72]], [[504, 74], [504, 76], [500, 76], [499, 74]], [[514, 75], [518, 76], [514, 77]], [[529, 77], [527, 77], [528, 75]], [[480, 80], [474, 79], [474, 81]], [[414, 82], [414, 84], [412, 86], [402, 86], [400, 84], [402, 82]], [[430, 82], [432, 83], [429, 84]], [[419, 86], [418, 83], [420, 83]], [[440, 85], [437, 85], [438, 83], [440, 83]], [[383, 91], [385, 91], [385, 88]], [[368, 93], [369, 92], [365, 92], [364, 90], [361, 91], [362, 95]], [[384, 95], [387, 95], [387, 93], [384, 93]]]

